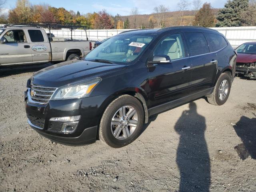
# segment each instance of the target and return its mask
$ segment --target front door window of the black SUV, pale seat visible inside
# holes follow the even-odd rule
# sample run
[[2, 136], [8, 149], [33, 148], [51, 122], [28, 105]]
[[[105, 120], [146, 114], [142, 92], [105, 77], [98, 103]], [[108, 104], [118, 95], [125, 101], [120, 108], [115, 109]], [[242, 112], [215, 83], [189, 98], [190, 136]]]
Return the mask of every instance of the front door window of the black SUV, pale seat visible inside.
[[173, 34], [161, 40], [153, 55], [168, 55], [171, 60], [185, 57], [184, 45], [180, 34]]

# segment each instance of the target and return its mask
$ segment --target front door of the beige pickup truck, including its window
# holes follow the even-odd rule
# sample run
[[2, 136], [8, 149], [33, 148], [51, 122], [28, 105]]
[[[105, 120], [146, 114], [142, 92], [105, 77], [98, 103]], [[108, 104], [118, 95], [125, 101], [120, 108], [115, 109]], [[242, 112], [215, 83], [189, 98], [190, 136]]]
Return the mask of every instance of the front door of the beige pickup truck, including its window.
[[0, 65], [31, 64], [32, 54], [24, 30], [6, 30], [0, 43]]

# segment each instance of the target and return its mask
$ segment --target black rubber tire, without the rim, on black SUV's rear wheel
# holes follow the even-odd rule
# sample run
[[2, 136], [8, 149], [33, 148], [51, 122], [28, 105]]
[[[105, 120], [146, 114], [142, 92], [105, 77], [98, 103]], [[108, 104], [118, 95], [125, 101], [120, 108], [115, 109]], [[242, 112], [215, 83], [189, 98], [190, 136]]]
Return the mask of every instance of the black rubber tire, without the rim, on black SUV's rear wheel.
[[[220, 77], [218, 78], [218, 81], [216, 82], [216, 85], [214, 87], [214, 91], [212, 92], [210, 97], [207, 97], [207, 100], [210, 104], [220, 106], [220, 105], [223, 105], [224, 103], [226, 103], [226, 101], [228, 100], [228, 96], [230, 94], [230, 88], [231, 88], [231, 80], [230, 79], [231, 79], [230, 72], [224, 72], [220, 75]], [[222, 83], [223, 80], [228, 81], [228, 93], [227, 93], [226, 97], [224, 98], [224, 100], [221, 100], [219, 98], [219, 88], [220, 88], [220, 84]]]

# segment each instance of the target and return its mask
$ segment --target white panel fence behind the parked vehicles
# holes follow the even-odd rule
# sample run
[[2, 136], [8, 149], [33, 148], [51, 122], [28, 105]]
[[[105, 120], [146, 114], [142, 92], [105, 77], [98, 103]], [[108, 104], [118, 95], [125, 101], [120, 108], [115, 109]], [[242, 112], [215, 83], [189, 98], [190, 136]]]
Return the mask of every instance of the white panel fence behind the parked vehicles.
[[[0, 26], [3, 26], [0, 24]], [[220, 33], [224, 34], [226, 38], [229, 40], [230, 44], [236, 48], [239, 45], [256, 41], [256, 26], [253, 27], [222, 27], [222, 28], [212, 28]], [[115, 36], [123, 31], [127, 31], [129, 29], [109, 29], [109, 30], [87, 30], [87, 36], [90, 41], [98, 41], [103, 40], [108, 37]], [[48, 30], [46, 29], [46, 32]], [[71, 37], [71, 31], [68, 29], [62, 30], [51, 30], [55, 36], [62, 36], [66, 38]], [[86, 39], [86, 33], [84, 30], [74, 30], [72, 32], [72, 36], [74, 39]]]

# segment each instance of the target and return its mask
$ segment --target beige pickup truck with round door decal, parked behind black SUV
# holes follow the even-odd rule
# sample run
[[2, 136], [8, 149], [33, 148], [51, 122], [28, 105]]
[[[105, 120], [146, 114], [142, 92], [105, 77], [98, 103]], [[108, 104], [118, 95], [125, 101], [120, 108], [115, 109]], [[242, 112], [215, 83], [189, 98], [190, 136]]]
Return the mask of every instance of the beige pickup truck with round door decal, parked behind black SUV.
[[0, 67], [62, 62], [83, 57], [90, 50], [89, 41], [52, 38], [43, 28], [0, 28]]

